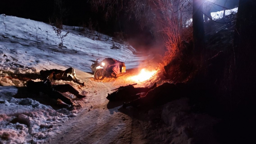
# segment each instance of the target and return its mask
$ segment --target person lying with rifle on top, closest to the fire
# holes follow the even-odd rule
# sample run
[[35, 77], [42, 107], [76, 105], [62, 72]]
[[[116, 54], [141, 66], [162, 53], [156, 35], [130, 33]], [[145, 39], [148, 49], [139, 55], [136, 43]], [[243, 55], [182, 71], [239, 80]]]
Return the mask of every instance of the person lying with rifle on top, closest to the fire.
[[140, 97], [140, 93], [146, 93], [156, 87], [156, 83], [152, 87], [134, 87], [132, 85], [121, 86], [118, 90], [108, 94], [106, 97], [109, 101], [134, 100]]

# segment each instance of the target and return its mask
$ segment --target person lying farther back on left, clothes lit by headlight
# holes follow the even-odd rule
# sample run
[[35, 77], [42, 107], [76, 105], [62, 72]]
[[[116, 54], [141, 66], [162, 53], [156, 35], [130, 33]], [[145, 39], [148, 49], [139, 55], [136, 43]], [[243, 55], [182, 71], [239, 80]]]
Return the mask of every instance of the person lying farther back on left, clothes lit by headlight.
[[79, 79], [76, 78], [75, 70], [73, 67], [70, 67], [66, 70], [59, 69], [50, 69], [50, 70], [41, 70], [40, 74], [43, 78], [48, 78], [50, 80], [65, 80], [65, 81], [73, 81], [78, 84], [82, 84], [85, 86], [85, 82], [81, 83]]

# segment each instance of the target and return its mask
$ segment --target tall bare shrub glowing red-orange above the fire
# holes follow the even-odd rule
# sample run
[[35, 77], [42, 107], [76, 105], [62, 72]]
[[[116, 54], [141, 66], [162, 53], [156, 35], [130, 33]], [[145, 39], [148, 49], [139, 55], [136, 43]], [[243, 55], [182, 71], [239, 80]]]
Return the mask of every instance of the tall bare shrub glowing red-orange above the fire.
[[155, 0], [151, 3], [152, 7], [161, 10], [161, 13], [155, 12], [158, 15], [156, 29], [163, 35], [167, 49], [159, 64], [160, 68], [170, 63], [179, 54], [179, 45], [183, 40], [182, 31], [187, 29], [186, 19], [189, 17], [189, 14], [183, 12], [184, 9], [188, 9], [187, 6], [183, 7], [186, 3], [189, 5], [189, 1], [181, 0]]

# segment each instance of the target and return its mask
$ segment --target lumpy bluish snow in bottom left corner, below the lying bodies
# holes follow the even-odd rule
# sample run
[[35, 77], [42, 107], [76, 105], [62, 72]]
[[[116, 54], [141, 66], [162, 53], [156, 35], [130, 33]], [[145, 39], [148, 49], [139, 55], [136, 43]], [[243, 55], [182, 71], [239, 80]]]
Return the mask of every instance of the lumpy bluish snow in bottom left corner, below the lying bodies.
[[[0, 86], [0, 140], [2, 143], [42, 143], [72, 116], [30, 98], [14, 98], [15, 86]], [[75, 111], [74, 111], [75, 112]]]

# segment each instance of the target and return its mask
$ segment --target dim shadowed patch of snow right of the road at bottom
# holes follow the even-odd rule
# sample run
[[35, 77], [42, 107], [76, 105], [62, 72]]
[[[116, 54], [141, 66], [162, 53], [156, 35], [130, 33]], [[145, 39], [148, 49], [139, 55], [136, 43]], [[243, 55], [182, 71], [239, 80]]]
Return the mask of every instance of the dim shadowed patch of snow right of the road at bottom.
[[213, 127], [219, 121], [207, 114], [193, 113], [188, 99], [179, 99], [163, 106], [161, 119], [167, 124], [158, 132], [165, 143], [217, 143]]

